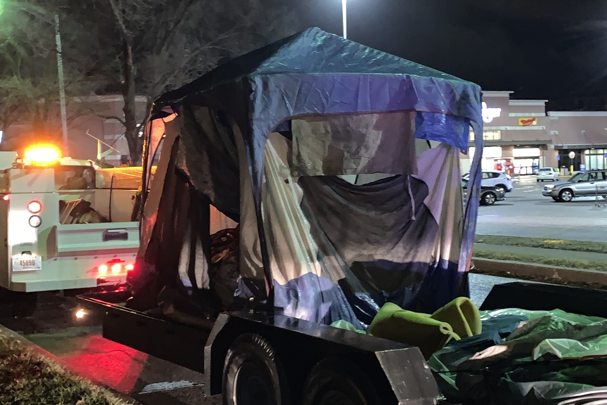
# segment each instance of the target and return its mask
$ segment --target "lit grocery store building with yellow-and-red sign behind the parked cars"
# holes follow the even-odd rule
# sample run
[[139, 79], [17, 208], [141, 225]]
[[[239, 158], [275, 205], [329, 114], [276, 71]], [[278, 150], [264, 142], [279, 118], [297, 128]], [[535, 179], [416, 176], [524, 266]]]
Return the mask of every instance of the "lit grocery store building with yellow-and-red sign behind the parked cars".
[[[526, 175], [546, 166], [563, 172], [571, 165], [574, 171], [607, 168], [607, 111], [546, 112], [548, 100], [515, 100], [512, 93], [483, 92], [483, 169]], [[473, 141], [471, 132], [462, 173], [476, 153]]]

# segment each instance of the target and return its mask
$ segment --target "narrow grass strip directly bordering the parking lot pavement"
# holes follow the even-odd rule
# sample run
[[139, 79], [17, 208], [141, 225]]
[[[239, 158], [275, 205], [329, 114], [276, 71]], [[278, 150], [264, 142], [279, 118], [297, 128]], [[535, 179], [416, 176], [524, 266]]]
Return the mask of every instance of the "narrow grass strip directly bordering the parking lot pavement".
[[580, 252], [607, 253], [607, 243], [585, 240], [549, 239], [543, 237], [518, 237], [498, 235], [476, 235], [475, 243], [488, 245], [520, 246], [527, 248], [574, 250]]

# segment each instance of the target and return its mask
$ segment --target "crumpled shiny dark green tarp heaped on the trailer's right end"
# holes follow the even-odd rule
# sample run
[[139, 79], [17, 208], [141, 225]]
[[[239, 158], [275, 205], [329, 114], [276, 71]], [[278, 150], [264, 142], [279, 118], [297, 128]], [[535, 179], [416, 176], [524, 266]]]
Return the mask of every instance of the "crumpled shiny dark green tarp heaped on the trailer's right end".
[[607, 320], [561, 310], [482, 311], [483, 333], [428, 361], [449, 403], [557, 404], [607, 386]]

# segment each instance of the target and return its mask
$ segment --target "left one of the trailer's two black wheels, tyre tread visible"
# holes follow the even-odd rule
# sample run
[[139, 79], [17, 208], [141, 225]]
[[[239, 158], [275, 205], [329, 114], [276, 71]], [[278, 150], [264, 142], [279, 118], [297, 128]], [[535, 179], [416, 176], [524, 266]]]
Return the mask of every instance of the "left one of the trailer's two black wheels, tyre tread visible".
[[239, 336], [223, 364], [224, 405], [285, 405], [287, 381], [266, 339], [254, 333]]

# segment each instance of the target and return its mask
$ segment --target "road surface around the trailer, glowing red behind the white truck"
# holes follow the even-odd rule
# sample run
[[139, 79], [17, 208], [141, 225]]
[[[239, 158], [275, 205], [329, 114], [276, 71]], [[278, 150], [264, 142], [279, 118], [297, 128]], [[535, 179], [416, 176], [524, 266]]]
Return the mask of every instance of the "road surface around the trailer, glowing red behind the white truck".
[[[471, 298], [480, 305], [494, 284], [509, 281], [512, 279], [470, 274]], [[76, 308], [77, 301], [45, 293], [32, 317], [0, 317], [0, 324], [57, 356], [73, 372], [141, 404], [221, 403], [220, 396], [205, 398], [202, 374], [104, 339], [101, 319], [87, 316], [79, 321], [73, 317]]]

